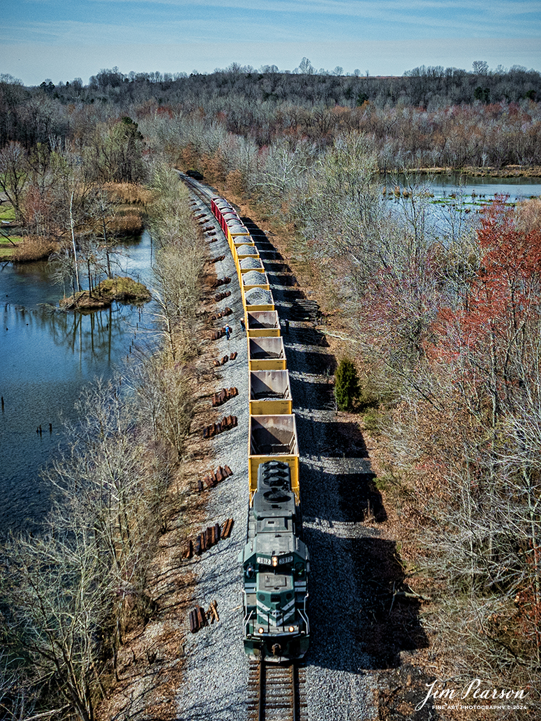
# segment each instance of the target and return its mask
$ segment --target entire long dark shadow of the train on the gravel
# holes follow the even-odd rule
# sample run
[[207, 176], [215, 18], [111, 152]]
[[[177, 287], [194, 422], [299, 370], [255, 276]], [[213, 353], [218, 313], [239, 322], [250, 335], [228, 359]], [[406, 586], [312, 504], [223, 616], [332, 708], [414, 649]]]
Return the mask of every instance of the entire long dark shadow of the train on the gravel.
[[[278, 314], [282, 322], [291, 322], [283, 336], [289, 370], [333, 373], [334, 356], [320, 352], [329, 344], [312, 318], [317, 309], [294, 285], [296, 278], [264, 231], [250, 218], [242, 220], [278, 285], [273, 290]], [[295, 316], [304, 315], [309, 324], [296, 325]], [[296, 407], [331, 410], [331, 384], [290, 382]], [[377, 524], [387, 520], [387, 512], [358, 423], [325, 416], [296, 415], [301, 456], [311, 459], [300, 467], [304, 541], [311, 558], [307, 663], [353, 673], [400, 669], [401, 652], [428, 646], [419, 619], [421, 601], [408, 587], [395, 541], [379, 536]]]

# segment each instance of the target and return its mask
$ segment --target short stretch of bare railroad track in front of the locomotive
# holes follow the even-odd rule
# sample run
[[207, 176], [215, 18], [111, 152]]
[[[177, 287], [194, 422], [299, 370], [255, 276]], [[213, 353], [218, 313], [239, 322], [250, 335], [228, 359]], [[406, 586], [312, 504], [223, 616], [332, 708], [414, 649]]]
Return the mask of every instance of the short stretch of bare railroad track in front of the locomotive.
[[248, 718], [250, 721], [307, 721], [305, 669], [250, 660]]

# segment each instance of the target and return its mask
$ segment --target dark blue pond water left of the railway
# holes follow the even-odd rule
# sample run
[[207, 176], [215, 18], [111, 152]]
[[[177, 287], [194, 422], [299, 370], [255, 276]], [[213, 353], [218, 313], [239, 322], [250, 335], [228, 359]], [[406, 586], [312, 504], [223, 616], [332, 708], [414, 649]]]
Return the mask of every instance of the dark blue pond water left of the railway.
[[[151, 287], [151, 250], [147, 233], [118, 247], [115, 273]], [[31, 528], [46, 510], [40, 469], [69, 441], [62, 419], [76, 420], [83, 386], [156, 340], [152, 303], [82, 315], [55, 311], [60, 297], [46, 263], [0, 266], [0, 534]]]

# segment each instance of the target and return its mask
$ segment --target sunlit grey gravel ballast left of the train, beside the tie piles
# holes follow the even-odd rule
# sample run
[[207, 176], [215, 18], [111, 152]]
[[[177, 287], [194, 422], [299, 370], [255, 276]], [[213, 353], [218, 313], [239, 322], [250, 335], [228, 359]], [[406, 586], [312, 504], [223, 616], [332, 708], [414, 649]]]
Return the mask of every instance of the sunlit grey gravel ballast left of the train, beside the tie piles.
[[[216, 226], [218, 224], [216, 223]], [[223, 415], [236, 415], [238, 425], [226, 430], [211, 441], [201, 440], [208, 448], [208, 467], [228, 465], [233, 475], [206, 493], [207, 526], [234, 519], [229, 539], [185, 562], [197, 579], [198, 593], [193, 603], [208, 609], [217, 601], [220, 620], [195, 634], [188, 632], [185, 645], [185, 684], [177, 696], [179, 721], [244, 721], [247, 718], [248, 663], [242, 645], [242, 575], [237, 555], [245, 544], [248, 508], [248, 363], [247, 342], [239, 319], [243, 317], [241, 293], [234, 261], [225, 236], [216, 233], [218, 242], [213, 252], [224, 253], [224, 260], [216, 267], [217, 275], [229, 275], [232, 295], [216, 304], [229, 305], [232, 334], [213, 343], [215, 355], [221, 358], [237, 352], [234, 361], [216, 369], [216, 389], [236, 386], [239, 394], [224, 403], [216, 412], [216, 420]], [[236, 320], [234, 320], [236, 319]], [[210, 400], [209, 400], [210, 405]], [[203, 530], [203, 528], [201, 528]], [[188, 624], [188, 620], [186, 620]]]

